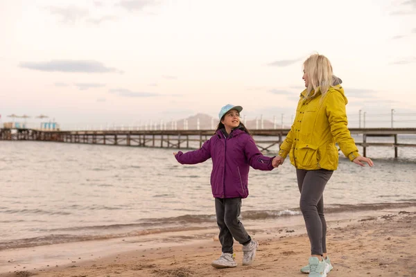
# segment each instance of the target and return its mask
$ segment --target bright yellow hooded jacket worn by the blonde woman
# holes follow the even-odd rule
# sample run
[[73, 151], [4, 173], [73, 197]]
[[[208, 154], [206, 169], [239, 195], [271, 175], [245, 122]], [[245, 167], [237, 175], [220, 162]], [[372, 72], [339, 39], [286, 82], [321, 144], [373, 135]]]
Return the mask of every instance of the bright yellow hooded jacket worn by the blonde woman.
[[306, 89], [297, 104], [295, 122], [280, 145], [279, 156], [289, 154], [295, 168], [305, 170], [336, 170], [338, 143], [349, 160], [359, 156], [347, 127], [345, 105], [348, 100], [340, 84], [330, 87], [324, 98], [320, 91], [306, 99]]

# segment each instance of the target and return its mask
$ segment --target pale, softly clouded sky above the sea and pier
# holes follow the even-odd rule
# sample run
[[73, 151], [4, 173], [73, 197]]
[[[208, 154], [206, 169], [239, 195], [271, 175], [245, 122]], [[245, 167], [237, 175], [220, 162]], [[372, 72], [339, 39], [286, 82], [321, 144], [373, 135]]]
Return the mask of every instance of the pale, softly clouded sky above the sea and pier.
[[166, 122], [227, 103], [290, 121], [320, 53], [350, 122], [394, 109], [416, 125], [416, 0], [0, 0], [0, 34], [3, 122]]

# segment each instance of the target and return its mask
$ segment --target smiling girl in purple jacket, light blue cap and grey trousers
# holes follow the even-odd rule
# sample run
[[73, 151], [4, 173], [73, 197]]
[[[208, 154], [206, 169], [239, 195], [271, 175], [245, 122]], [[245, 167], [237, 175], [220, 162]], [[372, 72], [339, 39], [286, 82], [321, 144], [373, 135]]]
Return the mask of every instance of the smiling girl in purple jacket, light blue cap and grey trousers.
[[222, 255], [211, 265], [216, 268], [236, 267], [234, 239], [243, 244], [243, 265], [250, 265], [256, 256], [258, 242], [252, 240], [239, 220], [241, 199], [248, 197], [248, 171], [272, 170], [275, 157], [265, 157], [252, 136], [240, 122], [241, 106], [225, 105], [218, 117], [214, 136], [199, 150], [173, 153], [182, 164], [196, 164], [212, 159], [211, 189], [215, 197], [216, 220]]

